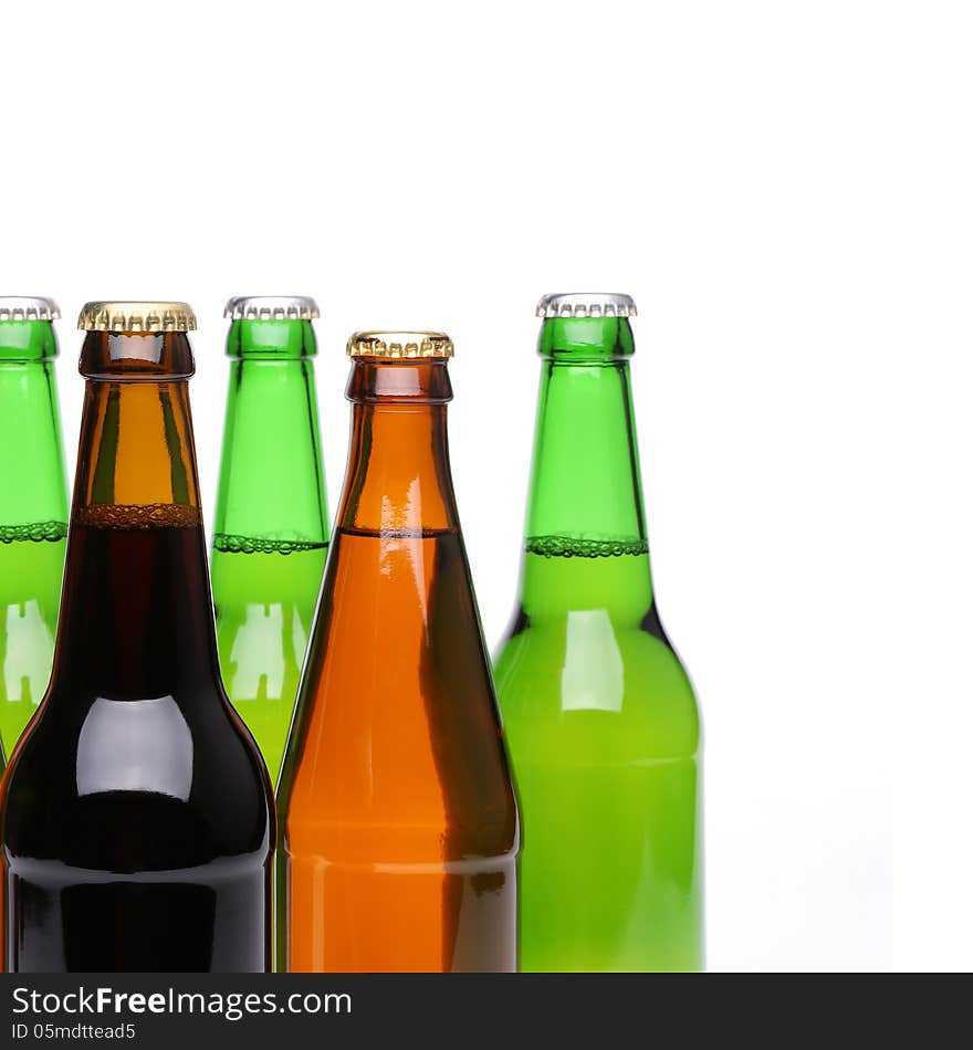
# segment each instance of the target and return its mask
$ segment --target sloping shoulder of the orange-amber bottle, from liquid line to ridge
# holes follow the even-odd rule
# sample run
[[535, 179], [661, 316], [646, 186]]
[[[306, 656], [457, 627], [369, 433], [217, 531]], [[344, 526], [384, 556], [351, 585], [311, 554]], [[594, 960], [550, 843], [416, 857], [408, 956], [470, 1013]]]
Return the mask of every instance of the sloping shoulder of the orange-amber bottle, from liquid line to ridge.
[[515, 797], [459, 535], [345, 529], [335, 544], [278, 794], [289, 848], [511, 852]]

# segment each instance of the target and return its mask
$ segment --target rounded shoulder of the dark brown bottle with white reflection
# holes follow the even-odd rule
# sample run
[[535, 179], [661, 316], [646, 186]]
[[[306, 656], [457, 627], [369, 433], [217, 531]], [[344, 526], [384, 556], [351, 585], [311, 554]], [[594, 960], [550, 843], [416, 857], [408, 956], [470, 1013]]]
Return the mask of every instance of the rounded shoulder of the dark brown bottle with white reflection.
[[160, 870], [265, 852], [262, 762], [218, 691], [199, 700], [49, 694], [4, 781], [8, 853]]

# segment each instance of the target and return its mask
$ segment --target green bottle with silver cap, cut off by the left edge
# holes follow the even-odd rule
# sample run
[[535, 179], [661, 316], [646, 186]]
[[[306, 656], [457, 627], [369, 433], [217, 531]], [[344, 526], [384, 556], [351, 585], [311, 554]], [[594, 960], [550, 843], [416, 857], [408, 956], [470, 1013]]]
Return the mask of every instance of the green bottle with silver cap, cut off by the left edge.
[[[67, 479], [49, 298], [0, 297], [0, 744], [10, 755], [51, 676]], [[2, 759], [0, 759], [2, 762]]]

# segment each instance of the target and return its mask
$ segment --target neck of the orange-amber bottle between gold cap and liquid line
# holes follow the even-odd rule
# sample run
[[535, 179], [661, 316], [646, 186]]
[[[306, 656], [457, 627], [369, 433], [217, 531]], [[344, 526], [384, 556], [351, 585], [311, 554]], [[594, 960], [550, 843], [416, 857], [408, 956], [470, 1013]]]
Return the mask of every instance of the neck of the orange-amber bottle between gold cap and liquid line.
[[459, 528], [446, 429], [451, 397], [444, 361], [355, 364], [339, 528], [387, 536]]

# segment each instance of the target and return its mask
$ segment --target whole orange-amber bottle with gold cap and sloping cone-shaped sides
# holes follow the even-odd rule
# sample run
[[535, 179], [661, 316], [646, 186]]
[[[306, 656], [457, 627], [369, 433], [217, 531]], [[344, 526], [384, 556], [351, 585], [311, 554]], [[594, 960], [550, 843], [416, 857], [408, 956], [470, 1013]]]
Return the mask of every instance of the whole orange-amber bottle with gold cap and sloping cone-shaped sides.
[[517, 812], [449, 470], [452, 344], [352, 337], [348, 471], [278, 807], [279, 959], [512, 970]]

